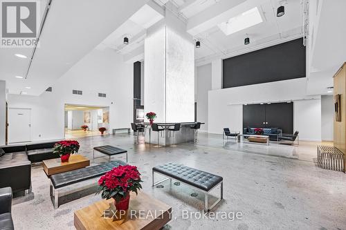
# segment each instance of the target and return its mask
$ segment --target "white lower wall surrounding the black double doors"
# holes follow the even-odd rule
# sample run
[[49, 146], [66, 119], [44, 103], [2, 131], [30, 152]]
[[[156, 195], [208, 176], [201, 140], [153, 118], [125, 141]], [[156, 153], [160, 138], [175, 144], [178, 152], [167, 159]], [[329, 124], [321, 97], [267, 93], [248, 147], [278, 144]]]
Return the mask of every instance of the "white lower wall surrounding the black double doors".
[[[250, 86], [224, 88], [210, 90], [208, 93], [208, 132], [222, 133], [222, 128], [229, 127], [234, 131], [242, 131], [242, 105], [260, 104], [261, 102], [285, 102], [294, 101], [294, 127], [300, 131], [300, 140], [321, 140], [321, 113], [320, 96], [307, 96], [306, 79], [290, 79], [280, 82], [269, 82]], [[313, 101], [315, 107], [304, 111], [299, 100], [307, 99]], [[317, 100], [315, 100], [317, 99]], [[319, 108], [318, 113], [316, 109]], [[300, 111], [302, 110], [302, 111]], [[300, 115], [304, 119], [310, 119], [308, 124], [301, 122]], [[316, 126], [316, 127], [315, 127]], [[319, 127], [319, 128], [318, 128]]]

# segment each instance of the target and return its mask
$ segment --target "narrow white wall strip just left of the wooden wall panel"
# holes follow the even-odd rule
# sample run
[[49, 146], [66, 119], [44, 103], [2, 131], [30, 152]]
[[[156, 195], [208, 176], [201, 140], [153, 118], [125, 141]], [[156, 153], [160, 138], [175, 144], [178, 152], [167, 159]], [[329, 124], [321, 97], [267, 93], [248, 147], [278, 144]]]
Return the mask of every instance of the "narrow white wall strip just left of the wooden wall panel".
[[334, 99], [332, 95], [321, 98], [321, 131], [323, 141], [334, 140]]

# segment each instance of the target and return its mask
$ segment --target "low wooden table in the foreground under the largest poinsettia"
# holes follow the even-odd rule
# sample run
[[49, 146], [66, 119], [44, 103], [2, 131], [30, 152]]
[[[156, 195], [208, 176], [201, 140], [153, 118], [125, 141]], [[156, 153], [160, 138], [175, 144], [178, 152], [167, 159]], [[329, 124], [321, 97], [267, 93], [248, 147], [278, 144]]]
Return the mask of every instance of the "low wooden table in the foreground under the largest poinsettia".
[[[172, 218], [172, 207], [156, 200], [146, 193], [131, 193], [129, 211], [124, 220], [107, 218], [114, 210], [114, 200], [100, 200], [88, 207], [75, 211], [74, 223], [76, 229], [161, 229]], [[107, 210], [107, 211], [105, 211]], [[132, 213], [132, 215], [131, 215]]]

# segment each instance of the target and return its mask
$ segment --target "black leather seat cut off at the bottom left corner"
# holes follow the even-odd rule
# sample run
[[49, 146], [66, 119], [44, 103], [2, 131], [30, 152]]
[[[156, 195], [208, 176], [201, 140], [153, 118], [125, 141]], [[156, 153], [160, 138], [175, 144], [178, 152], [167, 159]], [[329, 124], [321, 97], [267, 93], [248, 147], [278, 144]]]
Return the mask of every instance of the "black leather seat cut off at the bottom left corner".
[[11, 230], [13, 226], [12, 215], [12, 189], [10, 187], [0, 189], [0, 229]]

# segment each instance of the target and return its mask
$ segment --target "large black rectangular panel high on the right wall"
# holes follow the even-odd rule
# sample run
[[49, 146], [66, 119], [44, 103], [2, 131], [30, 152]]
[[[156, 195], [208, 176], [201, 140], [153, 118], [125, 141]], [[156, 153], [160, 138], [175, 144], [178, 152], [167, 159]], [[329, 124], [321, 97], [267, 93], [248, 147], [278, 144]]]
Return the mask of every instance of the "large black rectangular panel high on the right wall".
[[302, 39], [223, 60], [223, 88], [306, 77]]

